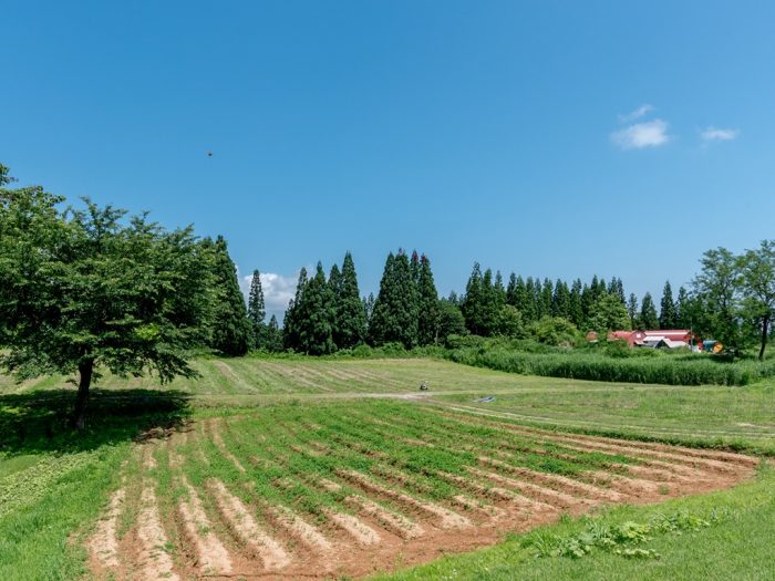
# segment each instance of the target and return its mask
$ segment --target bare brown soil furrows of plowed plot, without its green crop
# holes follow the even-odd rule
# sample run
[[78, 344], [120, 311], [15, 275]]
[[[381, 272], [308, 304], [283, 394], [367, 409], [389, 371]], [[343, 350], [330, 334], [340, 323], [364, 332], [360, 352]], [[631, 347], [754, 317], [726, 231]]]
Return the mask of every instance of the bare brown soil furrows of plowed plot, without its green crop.
[[[316, 516], [299, 506], [291, 509], [290, 505], [271, 505], [258, 496], [245, 476], [237, 486], [244, 487], [240, 496], [249, 501], [229, 489], [234, 485], [217, 479], [195, 489], [180, 467], [186, 461], [202, 464], [197, 460], [202, 454], [199, 438], [211, 438], [225, 457], [241, 466], [220, 437], [228, 425], [208, 421], [205, 429], [192, 432], [190, 446], [180, 447], [185, 435], [173, 435], [167, 440], [169, 465], [185, 494], [174, 505], [165, 505], [164, 519], [153, 479], [156, 463], [152, 458], [157, 445], [138, 446], [145, 476], [135, 483], [142, 492], [122, 486], [111, 498], [95, 535], [87, 541], [93, 570], [99, 578], [113, 574], [116, 579], [360, 578], [486, 547], [509, 531], [525, 531], [566, 512], [580, 515], [617, 502], [658, 502], [732, 486], [751, 477], [758, 463], [732, 453], [488, 423], [570, 449], [611, 455], [610, 465], [606, 464], [610, 467], [571, 478], [525, 468], [517, 461], [518, 452], [495, 449], [478, 457], [478, 465], [467, 471], [440, 473], [466, 494], [433, 502], [421, 498], [427, 491], [421, 478], [407, 477], [394, 466], [385, 465], [384, 470], [368, 475], [341, 470], [335, 477], [339, 481], [309, 480], [320, 490], [344, 496], [341, 509], [330, 507]], [[359, 443], [343, 438], [338, 444], [379, 457]], [[436, 445], [459, 447], [461, 443]], [[329, 449], [326, 443], [311, 443], [299, 446], [296, 453], [313, 458]], [[190, 456], [182, 457], [179, 453]], [[639, 463], [622, 464], [613, 455]], [[275, 466], [271, 460], [255, 461], [258, 468]], [[275, 485], [281, 488], [288, 481], [278, 479]], [[165, 500], [168, 502], [166, 494]], [[128, 513], [124, 505], [137, 506], [137, 518], [117, 541], [121, 513]], [[175, 544], [169, 543], [164, 526], [169, 527]], [[167, 547], [177, 547], [177, 560]]]

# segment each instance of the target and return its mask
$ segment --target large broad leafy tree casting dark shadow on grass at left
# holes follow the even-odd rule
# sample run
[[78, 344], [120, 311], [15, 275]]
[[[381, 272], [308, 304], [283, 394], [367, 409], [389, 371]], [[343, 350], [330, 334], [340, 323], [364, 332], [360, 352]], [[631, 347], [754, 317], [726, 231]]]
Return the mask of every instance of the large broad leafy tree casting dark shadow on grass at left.
[[186, 357], [207, 338], [215, 281], [192, 229], [89, 200], [63, 210], [64, 198], [9, 183], [0, 167], [2, 366], [19, 378], [78, 372], [78, 428], [102, 369], [195, 375]]

